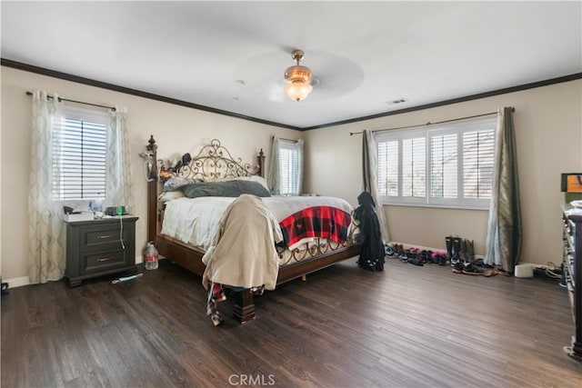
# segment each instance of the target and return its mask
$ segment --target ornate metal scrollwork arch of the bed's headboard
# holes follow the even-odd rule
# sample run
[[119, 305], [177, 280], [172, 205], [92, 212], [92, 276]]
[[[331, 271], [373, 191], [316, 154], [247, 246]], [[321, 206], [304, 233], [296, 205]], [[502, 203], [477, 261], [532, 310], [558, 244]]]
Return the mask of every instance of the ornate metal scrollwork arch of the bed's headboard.
[[226, 147], [221, 145], [217, 139], [213, 139], [210, 144], [202, 147], [194, 158], [185, 154], [182, 160], [184, 163], [178, 162], [175, 167], [163, 166], [160, 176], [216, 180], [249, 176], [259, 171], [259, 166], [243, 163], [241, 158], [233, 158]]

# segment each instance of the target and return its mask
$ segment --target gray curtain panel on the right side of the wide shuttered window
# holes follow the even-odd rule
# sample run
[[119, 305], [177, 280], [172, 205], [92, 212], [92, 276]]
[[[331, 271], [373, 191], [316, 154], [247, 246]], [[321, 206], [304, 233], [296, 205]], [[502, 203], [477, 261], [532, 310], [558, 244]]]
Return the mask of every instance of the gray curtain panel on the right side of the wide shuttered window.
[[497, 116], [495, 168], [489, 205], [485, 263], [513, 274], [521, 253], [521, 208], [513, 108]]

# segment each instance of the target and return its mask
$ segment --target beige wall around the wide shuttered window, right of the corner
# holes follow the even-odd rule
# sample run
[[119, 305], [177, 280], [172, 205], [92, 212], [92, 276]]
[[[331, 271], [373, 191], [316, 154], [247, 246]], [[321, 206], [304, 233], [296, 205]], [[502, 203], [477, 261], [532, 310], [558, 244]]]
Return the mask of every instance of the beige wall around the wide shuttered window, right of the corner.
[[[562, 230], [558, 204], [563, 199], [559, 177], [582, 170], [581, 80], [308, 131], [306, 190], [337, 194], [356, 204], [362, 188], [362, 137], [350, 136], [350, 132], [435, 123], [495, 112], [502, 106], [516, 107], [523, 215], [521, 261], [559, 265]], [[477, 254], [484, 254], [487, 211], [413, 206], [385, 206], [385, 211], [392, 241], [444, 249], [445, 236], [453, 234], [475, 240]]]

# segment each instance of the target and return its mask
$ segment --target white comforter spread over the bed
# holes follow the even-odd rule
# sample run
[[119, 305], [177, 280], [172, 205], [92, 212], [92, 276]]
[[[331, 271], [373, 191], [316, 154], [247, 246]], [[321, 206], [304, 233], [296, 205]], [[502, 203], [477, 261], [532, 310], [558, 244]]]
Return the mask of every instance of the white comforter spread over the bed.
[[[330, 196], [272, 196], [261, 199], [278, 222], [311, 206], [334, 206], [348, 214], [353, 210], [345, 200]], [[162, 234], [206, 251], [213, 242], [222, 214], [235, 200], [236, 198], [211, 196], [168, 201]]]

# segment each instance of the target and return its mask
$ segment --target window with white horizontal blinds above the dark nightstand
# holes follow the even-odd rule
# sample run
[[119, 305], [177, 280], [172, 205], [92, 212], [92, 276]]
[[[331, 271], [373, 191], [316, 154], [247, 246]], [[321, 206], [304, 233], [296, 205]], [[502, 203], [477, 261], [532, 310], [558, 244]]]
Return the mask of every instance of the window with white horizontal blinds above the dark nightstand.
[[62, 108], [53, 123], [53, 199], [105, 198], [107, 128], [99, 112]]

